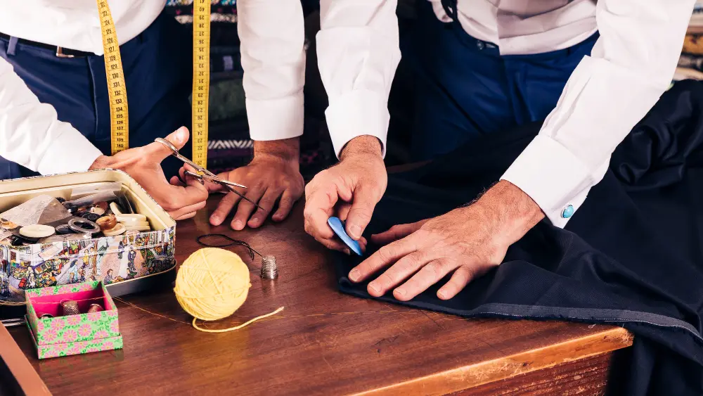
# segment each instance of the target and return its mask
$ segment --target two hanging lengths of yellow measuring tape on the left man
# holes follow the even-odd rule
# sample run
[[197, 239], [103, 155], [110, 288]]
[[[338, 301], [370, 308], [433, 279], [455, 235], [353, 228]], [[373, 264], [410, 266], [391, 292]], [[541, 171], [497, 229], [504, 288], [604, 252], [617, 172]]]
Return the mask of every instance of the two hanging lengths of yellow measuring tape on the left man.
[[[105, 51], [105, 74], [110, 98], [110, 140], [112, 154], [129, 148], [127, 89], [117, 30], [108, 0], [96, 0], [100, 13]], [[193, 162], [207, 168], [207, 110], [210, 87], [210, 1], [193, 1]]]

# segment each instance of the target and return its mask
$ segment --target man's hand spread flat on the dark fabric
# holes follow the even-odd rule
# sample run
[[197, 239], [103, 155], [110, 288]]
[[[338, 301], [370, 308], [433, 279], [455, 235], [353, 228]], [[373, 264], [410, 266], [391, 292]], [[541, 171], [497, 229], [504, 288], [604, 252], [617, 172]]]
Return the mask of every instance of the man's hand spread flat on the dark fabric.
[[437, 291], [448, 300], [501, 264], [508, 246], [543, 217], [527, 194], [500, 181], [472, 205], [372, 236], [375, 243], [389, 244], [352, 269], [349, 279], [361, 282], [390, 266], [368, 283], [368, 293], [380, 297], [394, 288], [393, 296], [407, 301], [453, 272]]

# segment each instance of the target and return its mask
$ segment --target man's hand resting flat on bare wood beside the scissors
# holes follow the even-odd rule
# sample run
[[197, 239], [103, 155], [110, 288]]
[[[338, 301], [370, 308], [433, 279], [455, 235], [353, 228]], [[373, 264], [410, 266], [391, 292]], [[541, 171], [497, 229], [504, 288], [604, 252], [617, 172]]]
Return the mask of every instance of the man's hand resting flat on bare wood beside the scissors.
[[[219, 226], [229, 212], [237, 207], [231, 222], [232, 228], [240, 230], [245, 225], [257, 228], [264, 224], [276, 201], [278, 210], [271, 215], [271, 219], [275, 222], [285, 219], [295, 201], [303, 194], [305, 182], [300, 174], [299, 151], [299, 138], [255, 141], [254, 160], [249, 165], [224, 172], [218, 177], [247, 186], [247, 189], [238, 189], [238, 192], [258, 203], [266, 212], [242, 200], [235, 193], [228, 192], [212, 212], [210, 224]], [[205, 185], [210, 192], [228, 191], [219, 184]]]

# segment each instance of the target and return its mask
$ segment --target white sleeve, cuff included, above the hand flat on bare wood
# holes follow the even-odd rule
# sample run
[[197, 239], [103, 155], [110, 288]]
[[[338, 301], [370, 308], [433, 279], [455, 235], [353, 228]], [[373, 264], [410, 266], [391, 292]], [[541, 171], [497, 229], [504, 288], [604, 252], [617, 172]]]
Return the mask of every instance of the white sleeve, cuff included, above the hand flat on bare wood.
[[300, 0], [239, 0], [237, 13], [252, 139], [302, 135], [305, 30]]

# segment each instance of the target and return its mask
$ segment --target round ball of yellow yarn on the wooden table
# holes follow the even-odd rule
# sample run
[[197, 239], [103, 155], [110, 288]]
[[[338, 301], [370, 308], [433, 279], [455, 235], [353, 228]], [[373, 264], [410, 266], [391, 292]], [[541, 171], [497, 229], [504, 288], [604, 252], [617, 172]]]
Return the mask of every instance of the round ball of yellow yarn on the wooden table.
[[247, 264], [236, 253], [202, 248], [181, 264], [174, 292], [188, 314], [217, 320], [241, 307], [251, 286]]

